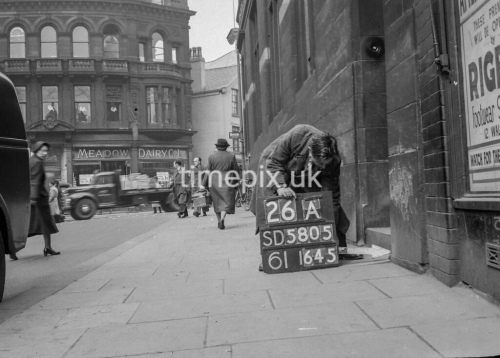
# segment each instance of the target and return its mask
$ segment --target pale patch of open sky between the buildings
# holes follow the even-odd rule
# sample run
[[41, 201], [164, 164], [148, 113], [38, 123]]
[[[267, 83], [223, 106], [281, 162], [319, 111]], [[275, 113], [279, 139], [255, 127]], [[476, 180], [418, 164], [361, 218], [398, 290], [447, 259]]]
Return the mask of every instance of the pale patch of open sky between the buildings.
[[238, 10], [238, 0], [187, 0], [190, 10], [196, 11], [189, 19], [189, 46], [201, 47], [205, 62], [213, 61], [234, 49], [226, 36], [238, 27], [233, 16]]

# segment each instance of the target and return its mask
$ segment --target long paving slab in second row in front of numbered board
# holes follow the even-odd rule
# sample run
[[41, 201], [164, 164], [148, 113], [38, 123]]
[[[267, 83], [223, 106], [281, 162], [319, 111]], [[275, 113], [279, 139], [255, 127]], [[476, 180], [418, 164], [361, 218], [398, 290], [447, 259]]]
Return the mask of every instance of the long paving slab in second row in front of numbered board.
[[326, 283], [314, 287], [270, 288], [269, 296], [275, 308], [387, 298], [366, 281]]

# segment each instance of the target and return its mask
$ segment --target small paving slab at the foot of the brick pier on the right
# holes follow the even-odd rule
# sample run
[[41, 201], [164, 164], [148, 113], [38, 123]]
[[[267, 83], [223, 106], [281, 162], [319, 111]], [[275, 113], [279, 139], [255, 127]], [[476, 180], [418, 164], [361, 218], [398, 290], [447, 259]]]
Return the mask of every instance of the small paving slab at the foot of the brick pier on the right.
[[368, 282], [383, 291], [389, 297], [452, 292], [451, 288], [427, 274], [375, 278], [370, 279]]

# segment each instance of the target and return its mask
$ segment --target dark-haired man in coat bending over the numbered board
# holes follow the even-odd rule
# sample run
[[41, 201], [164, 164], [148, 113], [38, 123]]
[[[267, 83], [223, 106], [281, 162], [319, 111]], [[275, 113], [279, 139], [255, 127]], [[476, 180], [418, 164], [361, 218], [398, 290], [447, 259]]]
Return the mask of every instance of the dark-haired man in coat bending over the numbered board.
[[[330, 190], [338, 245], [346, 247], [345, 233], [350, 222], [340, 206], [340, 163], [337, 142], [331, 134], [311, 125], [294, 126], [262, 151], [258, 162], [256, 185], [250, 200], [250, 210], [255, 214], [257, 197], [276, 194], [289, 198], [296, 197], [296, 193]], [[262, 183], [259, 182], [260, 171], [263, 171]], [[273, 181], [270, 180], [271, 177], [274, 178]], [[312, 177], [315, 177], [316, 181], [308, 180]], [[269, 181], [272, 183], [267, 187]], [[309, 183], [312, 185], [308, 186]], [[363, 255], [341, 253], [339, 258], [355, 260], [363, 258]]]

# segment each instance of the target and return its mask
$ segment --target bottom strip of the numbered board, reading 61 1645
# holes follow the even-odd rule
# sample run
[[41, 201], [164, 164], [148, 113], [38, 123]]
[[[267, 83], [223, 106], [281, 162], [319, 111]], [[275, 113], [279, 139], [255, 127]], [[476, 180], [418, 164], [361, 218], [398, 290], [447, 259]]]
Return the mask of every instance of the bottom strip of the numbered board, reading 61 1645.
[[265, 248], [262, 250], [262, 268], [265, 273], [304, 271], [338, 266], [336, 244]]

